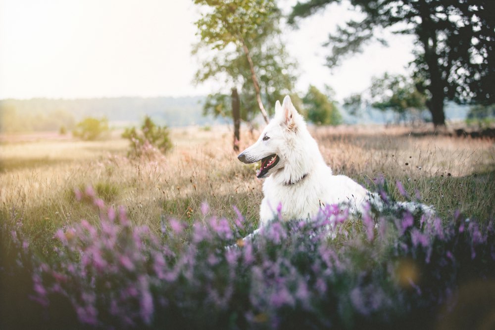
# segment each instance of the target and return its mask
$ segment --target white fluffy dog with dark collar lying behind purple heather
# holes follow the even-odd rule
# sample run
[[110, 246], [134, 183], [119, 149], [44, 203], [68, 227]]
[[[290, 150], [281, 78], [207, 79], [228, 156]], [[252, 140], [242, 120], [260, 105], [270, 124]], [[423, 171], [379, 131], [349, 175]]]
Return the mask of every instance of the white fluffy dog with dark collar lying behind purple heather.
[[[258, 141], [238, 156], [244, 163], [261, 160], [258, 178], [263, 183], [260, 225], [265, 226], [280, 212], [283, 220], [314, 219], [326, 204], [347, 204], [359, 213], [369, 202], [382, 209], [377, 193], [370, 192], [344, 175], [333, 175], [325, 163], [306, 123], [287, 95], [275, 105], [275, 117]], [[413, 203], [402, 203], [415, 209]], [[280, 208], [281, 207], [281, 208]]]

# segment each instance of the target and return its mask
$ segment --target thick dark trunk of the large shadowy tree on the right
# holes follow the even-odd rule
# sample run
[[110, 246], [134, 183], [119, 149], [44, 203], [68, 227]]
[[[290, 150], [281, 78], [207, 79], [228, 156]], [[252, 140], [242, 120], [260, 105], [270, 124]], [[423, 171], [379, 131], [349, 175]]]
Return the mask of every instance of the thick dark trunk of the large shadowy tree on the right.
[[437, 30], [430, 18], [429, 5], [425, 1], [421, 2], [420, 15], [422, 22], [418, 36], [425, 49], [425, 62], [428, 65], [428, 76], [430, 78], [430, 87], [428, 89], [432, 94], [427, 106], [432, 114], [433, 125], [435, 127], [445, 127], [445, 82], [442, 80], [438, 66]]

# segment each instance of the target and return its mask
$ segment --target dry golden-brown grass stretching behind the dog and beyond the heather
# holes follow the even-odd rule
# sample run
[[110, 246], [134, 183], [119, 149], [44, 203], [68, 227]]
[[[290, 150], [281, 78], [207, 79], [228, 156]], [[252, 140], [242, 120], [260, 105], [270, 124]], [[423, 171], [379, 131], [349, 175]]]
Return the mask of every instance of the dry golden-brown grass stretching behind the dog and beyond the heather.
[[[396, 180], [441, 215], [455, 209], [483, 220], [494, 216], [495, 146], [493, 141], [408, 136], [408, 129], [383, 127], [311, 128], [335, 174], [366, 184], [383, 174]], [[5, 221], [22, 222], [40, 245], [58, 227], [86, 218], [97, 222], [94, 209], [77, 202], [74, 188], [93, 186], [111, 205], [124, 205], [137, 225], [159, 230], [160, 217], [202, 219], [210, 213], [232, 218], [236, 205], [256, 222], [262, 182], [254, 166], [237, 160], [232, 133], [173, 129], [173, 150], [166, 156], [133, 160], [127, 141], [114, 133], [108, 141], [20, 139], [0, 144], [0, 202]], [[241, 148], [257, 137], [245, 133]], [[407, 163], [407, 165], [406, 165]], [[373, 187], [371, 187], [373, 188]]]

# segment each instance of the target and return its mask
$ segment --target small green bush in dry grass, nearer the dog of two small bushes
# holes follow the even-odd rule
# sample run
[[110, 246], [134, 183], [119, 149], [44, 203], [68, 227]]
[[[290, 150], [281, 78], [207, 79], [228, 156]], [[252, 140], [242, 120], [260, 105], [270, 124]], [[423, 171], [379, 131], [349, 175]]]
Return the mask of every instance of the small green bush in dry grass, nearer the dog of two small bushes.
[[122, 137], [131, 141], [129, 154], [136, 157], [150, 156], [156, 150], [166, 153], [172, 148], [168, 128], [157, 126], [148, 116], [141, 126], [141, 132], [136, 131], [135, 127], [127, 128]]

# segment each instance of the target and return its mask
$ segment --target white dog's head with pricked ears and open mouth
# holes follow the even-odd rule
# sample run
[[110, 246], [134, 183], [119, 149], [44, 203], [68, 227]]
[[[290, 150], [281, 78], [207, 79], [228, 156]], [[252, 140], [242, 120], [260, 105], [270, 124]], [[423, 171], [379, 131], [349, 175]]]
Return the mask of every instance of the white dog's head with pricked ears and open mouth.
[[238, 156], [243, 163], [261, 161], [257, 171], [258, 178], [266, 178], [286, 165], [290, 154], [295, 150], [295, 138], [298, 130], [305, 127], [304, 119], [297, 113], [291, 98], [287, 95], [284, 102], [275, 103], [275, 116], [261, 133], [258, 141]]

